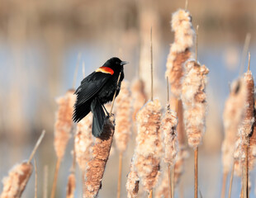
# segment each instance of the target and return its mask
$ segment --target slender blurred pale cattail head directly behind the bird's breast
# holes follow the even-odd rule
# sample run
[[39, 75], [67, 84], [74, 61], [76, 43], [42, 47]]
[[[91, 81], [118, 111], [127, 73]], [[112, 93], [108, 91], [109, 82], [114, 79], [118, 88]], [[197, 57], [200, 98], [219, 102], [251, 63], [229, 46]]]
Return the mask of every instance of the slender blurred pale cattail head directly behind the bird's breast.
[[127, 148], [131, 134], [131, 96], [129, 82], [121, 83], [121, 90], [116, 97], [116, 147], [123, 153]]

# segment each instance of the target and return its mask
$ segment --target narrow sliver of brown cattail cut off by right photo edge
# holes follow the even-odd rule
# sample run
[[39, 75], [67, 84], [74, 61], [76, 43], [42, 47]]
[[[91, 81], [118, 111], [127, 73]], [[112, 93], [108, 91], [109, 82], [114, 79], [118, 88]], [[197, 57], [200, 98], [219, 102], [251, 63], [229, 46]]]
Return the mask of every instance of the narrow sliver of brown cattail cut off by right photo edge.
[[[256, 106], [256, 101], [254, 101], [254, 106]], [[254, 119], [256, 110], [254, 107]], [[254, 130], [253, 134], [249, 138], [249, 154], [248, 154], [248, 161], [249, 161], [249, 170], [253, 170], [256, 163], [256, 123], [254, 122]]]

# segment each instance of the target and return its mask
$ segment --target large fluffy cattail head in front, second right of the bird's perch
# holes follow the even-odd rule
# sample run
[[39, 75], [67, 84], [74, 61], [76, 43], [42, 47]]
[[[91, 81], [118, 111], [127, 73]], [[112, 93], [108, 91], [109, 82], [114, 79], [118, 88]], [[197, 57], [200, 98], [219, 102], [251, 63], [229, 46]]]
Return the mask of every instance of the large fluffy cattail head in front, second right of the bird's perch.
[[137, 114], [138, 135], [135, 148], [135, 168], [146, 191], [158, 181], [162, 156], [160, 134], [161, 105], [148, 101]]

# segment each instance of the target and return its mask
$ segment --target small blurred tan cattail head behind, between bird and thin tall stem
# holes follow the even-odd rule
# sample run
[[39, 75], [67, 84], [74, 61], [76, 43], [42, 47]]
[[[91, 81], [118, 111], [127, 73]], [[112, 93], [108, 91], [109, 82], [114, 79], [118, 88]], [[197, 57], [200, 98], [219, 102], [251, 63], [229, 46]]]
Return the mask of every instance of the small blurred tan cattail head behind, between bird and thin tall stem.
[[147, 99], [145, 94], [145, 85], [144, 82], [135, 78], [131, 84], [131, 96], [133, 98], [133, 115], [132, 120], [136, 120], [137, 112], [140, 110], [142, 106], [144, 106], [145, 101]]

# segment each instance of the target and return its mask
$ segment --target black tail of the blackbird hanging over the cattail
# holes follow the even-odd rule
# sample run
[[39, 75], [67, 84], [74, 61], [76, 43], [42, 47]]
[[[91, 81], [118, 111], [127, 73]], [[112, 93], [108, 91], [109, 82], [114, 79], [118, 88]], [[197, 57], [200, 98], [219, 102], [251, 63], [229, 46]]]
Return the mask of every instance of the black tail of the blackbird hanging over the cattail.
[[94, 137], [99, 137], [102, 134], [102, 130], [105, 123], [105, 112], [102, 108], [100, 101], [95, 98], [91, 103], [92, 111], [92, 134]]

